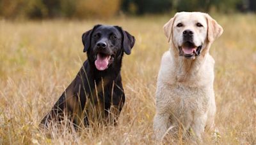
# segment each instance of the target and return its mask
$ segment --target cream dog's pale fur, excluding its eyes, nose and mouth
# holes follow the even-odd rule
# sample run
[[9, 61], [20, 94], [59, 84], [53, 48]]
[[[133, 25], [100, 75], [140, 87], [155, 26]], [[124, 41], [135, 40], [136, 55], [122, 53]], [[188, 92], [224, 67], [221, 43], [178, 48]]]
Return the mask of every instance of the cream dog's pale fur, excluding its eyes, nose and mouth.
[[[176, 26], [180, 22], [184, 27]], [[204, 27], [197, 27], [197, 22]], [[179, 56], [178, 46], [185, 29], [194, 32], [197, 46], [203, 44], [200, 56], [195, 59]], [[158, 141], [167, 133], [174, 135], [180, 128], [183, 134], [189, 132], [201, 139], [205, 127], [214, 127], [214, 59], [209, 48], [222, 32], [215, 20], [200, 12], [176, 13], [164, 25], [170, 50], [163, 55], [157, 78], [154, 132]]]

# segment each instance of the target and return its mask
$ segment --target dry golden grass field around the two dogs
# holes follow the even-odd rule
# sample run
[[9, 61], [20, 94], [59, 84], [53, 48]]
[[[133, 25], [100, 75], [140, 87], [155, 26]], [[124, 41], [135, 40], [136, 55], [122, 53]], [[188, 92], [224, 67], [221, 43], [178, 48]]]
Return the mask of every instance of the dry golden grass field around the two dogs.
[[[156, 78], [168, 50], [163, 25], [170, 16], [113, 20], [0, 20], [0, 144], [154, 144]], [[215, 15], [223, 35], [214, 57], [216, 128], [207, 144], [256, 144], [256, 15]], [[118, 127], [86, 128], [77, 134], [38, 123], [74, 79], [82, 63], [81, 35], [95, 24], [121, 25], [136, 37], [122, 67], [126, 102]], [[181, 143], [181, 142], [180, 142]]]

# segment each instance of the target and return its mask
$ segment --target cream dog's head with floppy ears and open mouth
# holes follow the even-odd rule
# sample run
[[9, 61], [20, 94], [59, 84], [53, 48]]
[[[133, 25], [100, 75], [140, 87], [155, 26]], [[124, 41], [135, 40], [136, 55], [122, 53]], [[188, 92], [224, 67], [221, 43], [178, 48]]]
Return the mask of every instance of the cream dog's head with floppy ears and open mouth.
[[[207, 13], [179, 12], [164, 25], [164, 34], [177, 53], [186, 59], [195, 59], [209, 52], [209, 45], [218, 38], [222, 27]], [[206, 49], [205, 49], [206, 48]]]

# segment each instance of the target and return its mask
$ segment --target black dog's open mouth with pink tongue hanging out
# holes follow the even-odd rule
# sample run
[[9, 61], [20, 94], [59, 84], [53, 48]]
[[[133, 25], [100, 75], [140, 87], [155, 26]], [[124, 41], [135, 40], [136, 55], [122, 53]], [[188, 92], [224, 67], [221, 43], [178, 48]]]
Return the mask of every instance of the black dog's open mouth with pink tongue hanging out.
[[99, 71], [104, 71], [108, 69], [109, 65], [112, 64], [114, 59], [113, 55], [109, 55], [106, 53], [97, 53], [95, 57], [96, 59], [94, 64]]

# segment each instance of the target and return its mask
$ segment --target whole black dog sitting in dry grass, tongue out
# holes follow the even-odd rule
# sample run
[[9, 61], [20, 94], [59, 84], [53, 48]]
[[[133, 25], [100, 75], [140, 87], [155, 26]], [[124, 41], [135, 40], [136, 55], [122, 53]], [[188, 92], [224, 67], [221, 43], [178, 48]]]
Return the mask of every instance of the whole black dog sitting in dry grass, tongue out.
[[116, 124], [124, 106], [120, 70], [124, 52], [129, 55], [134, 46], [134, 36], [118, 26], [95, 25], [84, 32], [82, 40], [88, 60], [41, 121], [44, 127], [65, 116], [78, 126], [99, 119]]

